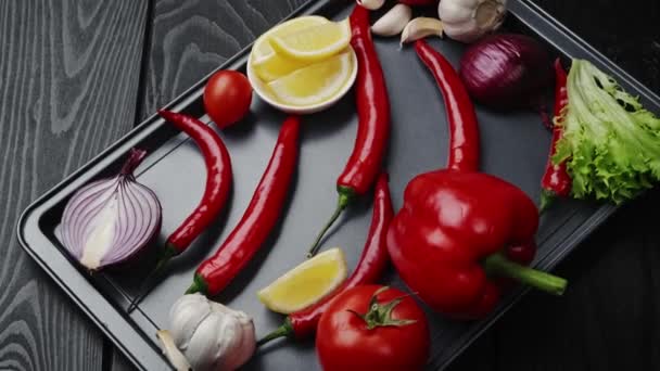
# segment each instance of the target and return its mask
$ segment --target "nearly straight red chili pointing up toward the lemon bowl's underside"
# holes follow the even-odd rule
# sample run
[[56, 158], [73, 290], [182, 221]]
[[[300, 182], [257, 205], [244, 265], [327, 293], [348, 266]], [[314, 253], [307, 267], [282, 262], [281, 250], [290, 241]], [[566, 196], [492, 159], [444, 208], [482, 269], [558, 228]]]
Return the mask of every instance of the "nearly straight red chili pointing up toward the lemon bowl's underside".
[[217, 295], [248, 265], [279, 219], [299, 154], [300, 118], [290, 116], [280, 129], [270, 162], [243, 217], [212, 257], [196, 269], [186, 293]]

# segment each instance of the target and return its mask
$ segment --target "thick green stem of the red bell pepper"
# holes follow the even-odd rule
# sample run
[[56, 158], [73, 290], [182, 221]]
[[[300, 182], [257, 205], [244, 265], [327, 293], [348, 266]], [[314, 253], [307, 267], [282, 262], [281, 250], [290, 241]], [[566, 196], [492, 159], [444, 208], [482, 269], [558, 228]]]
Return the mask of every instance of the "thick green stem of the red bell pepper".
[[485, 258], [484, 268], [488, 273], [508, 277], [553, 295], [562, 295], [567, 280], [507, 259], [502, 254]]

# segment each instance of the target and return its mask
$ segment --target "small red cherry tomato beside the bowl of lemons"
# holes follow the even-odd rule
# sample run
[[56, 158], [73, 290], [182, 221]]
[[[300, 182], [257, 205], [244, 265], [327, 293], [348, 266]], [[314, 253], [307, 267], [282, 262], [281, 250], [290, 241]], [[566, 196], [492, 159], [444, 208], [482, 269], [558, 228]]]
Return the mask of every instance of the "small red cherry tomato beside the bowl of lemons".
[[220, 129], [243, 118], [251, 102], [252, 86], [238, 71], [218, 71], [204, 88], [204, 108]]

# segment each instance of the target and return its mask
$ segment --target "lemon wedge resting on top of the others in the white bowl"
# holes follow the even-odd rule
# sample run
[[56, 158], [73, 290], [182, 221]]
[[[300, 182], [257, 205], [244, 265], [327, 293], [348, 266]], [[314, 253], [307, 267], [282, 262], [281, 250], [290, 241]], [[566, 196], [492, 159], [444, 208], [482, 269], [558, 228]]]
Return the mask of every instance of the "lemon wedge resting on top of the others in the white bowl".
[[339, 53], [351, 42], [348, 20], [307, 27], [290, 35], [270, 35], [277, 54], [299, 61], [321, 61]]

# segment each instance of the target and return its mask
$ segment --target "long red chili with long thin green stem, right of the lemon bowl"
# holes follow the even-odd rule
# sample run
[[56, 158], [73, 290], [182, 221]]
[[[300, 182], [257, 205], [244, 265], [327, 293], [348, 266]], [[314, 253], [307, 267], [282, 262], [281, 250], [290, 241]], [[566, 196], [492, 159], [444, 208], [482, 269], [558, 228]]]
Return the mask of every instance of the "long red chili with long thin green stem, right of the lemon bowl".
[[355, 102], [357, 105], [357, 137], [353, 153], [337, 179], [339, 202], [330, 220], [320, 231], [307, 256], [316, 254], [326, 232], [342, 212], [359, 195], [365, 194], [380, 171], [390, 136], [390, 101], [383, 71], [371, 40], [369, 11], [355, 5], [350, 17], [351, 46], [357, 56]]

